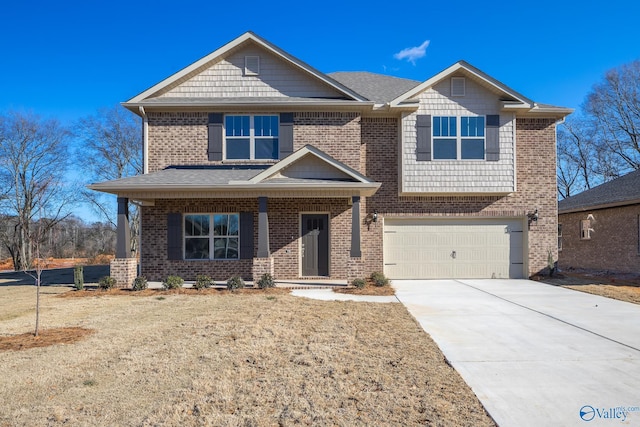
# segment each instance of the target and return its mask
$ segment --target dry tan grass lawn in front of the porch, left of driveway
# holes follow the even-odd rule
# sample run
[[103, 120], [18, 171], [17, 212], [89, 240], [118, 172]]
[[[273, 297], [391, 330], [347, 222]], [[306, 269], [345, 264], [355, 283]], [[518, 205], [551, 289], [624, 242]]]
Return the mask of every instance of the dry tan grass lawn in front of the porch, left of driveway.
[[[494, 425], [401, 304], [66, 290], [43, 288], [43, 328], [93, 333], [0, 352], [0, 426]], [[0, 286], [0, 338], [34, 301]]]

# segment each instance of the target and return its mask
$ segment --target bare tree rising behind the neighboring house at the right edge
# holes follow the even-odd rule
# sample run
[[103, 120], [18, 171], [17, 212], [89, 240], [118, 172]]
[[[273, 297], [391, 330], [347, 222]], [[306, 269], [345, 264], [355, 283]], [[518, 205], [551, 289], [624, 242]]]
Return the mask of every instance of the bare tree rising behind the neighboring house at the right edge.
[[598, 149], [612, 154], [605, 176], [640, 169], [640, 60], [607, 71], [583, 109], [597, 126]]

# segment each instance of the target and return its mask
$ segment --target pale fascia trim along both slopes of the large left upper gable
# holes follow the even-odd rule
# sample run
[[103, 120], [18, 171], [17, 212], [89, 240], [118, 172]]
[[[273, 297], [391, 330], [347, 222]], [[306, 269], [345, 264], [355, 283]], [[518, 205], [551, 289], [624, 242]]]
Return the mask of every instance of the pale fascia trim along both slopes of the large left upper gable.
[[206, 65], [207, 63], [212, 62], [216, 58], [221, 57], [225, 53], [229, 52], [230, 50], [232, 50], [232, 49], [234, 49], [234, 48], [236, 48], [238, 46], [240, 46], [242, 43], [244, 43], [244, 42], [246, 42], [248, 40], [251, 40], [251, 41], [255, 42], [256, 44], [262, 46], [264, 49], [272, 52], [273, 54], [279, 56], [280, 58], [282, 58], [286, 62], [290, 63], [294, 67], [299, 68], [299, 69], [307, 72], [308, 74], [311, 74], [312, 76], [316, 77], [319, 80], [322, 80], [324, 83], [328, 84], [329, 86], [332, 86], [334, 89], [336, 89], [339, 92], [342, 92], [343, 94], [353, 98], [354, 100], [356, 100], [356, 101], [367, 101], [366, 99], [362, 98], [357, 93], [349, 90], [345, 86], [341, 85], [340, 83], [336, 82], [335, 80], [331, 79], [330, 77], [324, 75], [323, 73], [317, 71], [316, 69], [310, 67], [309, 65], [305, 64], [304, 62], [294, 58], [293, 56], [289, 55], [288, 53], [286, 53], [285, 51], [281, 50], [280, 48], [272, 45], [271, 43], [268, 43], [266, 40], [263, 40], [262, 38], [258, 37], [257, 35], [253, 34], [252, 32], [246, 32], [246, 33], [242, 34], [240, 37], [237, 37], [236, 39], [230, 41], [229, 43], [225, 44], [224, 46], [216, 49], [215, 51], [213, 51], [212, 53], [208, 54], [207, 56], [204, 56], [203, 58], [200, 58], [199, 60], [197, 60], [193, 64], [183, 68], [182, 70], [178, 71], [177, 73], [175, 73], [175, 74], [169, 76], [168, 78], [162, 80], [160, 83], [158, 83], [158, 84], [150, 87], [149, 89], [145, 90], [144, 92], [134, 96], [129, 101], [126, 101], [124, 103], [124, 105], [128, 107], [129, 105], [142, 102], [144, 99], [150, 97], [151, 95], [153, 95], [156, 92], [164, 89], [165, 87], [171, 85], [172, 83], [175, 83], [176, 81], [178, 81], [181, 78], [189, 75], [190, 73], [192, 73], [195, 70], [199, 69], [200, 67]]

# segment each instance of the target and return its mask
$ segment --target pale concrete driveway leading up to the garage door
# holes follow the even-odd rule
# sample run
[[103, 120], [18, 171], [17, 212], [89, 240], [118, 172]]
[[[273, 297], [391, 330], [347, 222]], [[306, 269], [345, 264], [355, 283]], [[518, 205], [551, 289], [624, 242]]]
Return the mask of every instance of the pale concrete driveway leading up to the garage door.
[[529, 280], [393, 286], [498, 425], [640, 425], [640, 305]]

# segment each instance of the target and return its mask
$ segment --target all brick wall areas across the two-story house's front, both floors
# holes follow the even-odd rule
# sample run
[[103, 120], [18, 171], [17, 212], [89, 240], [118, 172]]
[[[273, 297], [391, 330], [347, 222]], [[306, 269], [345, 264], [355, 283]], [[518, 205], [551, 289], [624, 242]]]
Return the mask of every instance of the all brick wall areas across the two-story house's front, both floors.
[[[172, 164], [214, 164], [207, 160], [207, 113], [149, 113], [149, 171]], [[275, 199], [268, 201], [270, 244], [274, 275], [296, 279], [299, 271], [300, 213], [330, 214], [330, 278], [353, 279], [383, 271], [382, 221], [367, 223], [374, 211], [379, 218], [416, 217], [516, 217], [533, 209], [540, 219], [528, 232], [529, 275], [543, 271], [547, 253], [557, 259], [557, 203], [555, 175], [555, 120], [516, 120], [517, 191], [508, 196], [408, 196], [398, 194], [397, 118], [362, 118], [349, 112], [305, 112], [294, 116], [294, 149], [311, 144], [335, 159], [382, 183], [380, 190], [361, 202], [362, 259], [351, 259], [351, 207], [344, 199]], [[219, 163], [219, 162], [218, 162]], [[142, 208], [141, 269], [148, 280], [177, 274], [194, 280], [207, 274], [226, 280], [234, 274], [254, 277], [254, 261], [167, 260], [167, 214], [170, 212], [254, 212], [257, 246], [256, 199], [156, 200]], [[255, 256], [255, 253], [254, 253]], [[259, 267], [262, 270], [262, 267]]]

